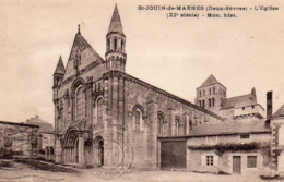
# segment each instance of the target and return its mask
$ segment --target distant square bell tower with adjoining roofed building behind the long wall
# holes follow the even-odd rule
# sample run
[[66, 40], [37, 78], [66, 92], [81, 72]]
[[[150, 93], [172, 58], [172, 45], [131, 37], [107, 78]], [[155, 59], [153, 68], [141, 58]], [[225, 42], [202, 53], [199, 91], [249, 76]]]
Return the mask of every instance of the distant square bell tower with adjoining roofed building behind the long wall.
[[197, 88], [196, 105], [223, 118], [236, 121], [263, 119], [264, 109], [257, 101], [256, 88], [250, 94], [227, 98], [227, 88], [214, 75]]

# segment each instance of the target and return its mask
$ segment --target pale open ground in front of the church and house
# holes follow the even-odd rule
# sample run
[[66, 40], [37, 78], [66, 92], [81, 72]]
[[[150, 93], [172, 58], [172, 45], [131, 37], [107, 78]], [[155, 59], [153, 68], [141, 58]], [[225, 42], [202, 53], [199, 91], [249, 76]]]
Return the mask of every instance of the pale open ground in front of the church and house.
[[104, 180], [97, 178], [92, 169], [79, 170], [80, 173], [68, 172], [50, 172], [45, 170], [36, 170], [29, 166], [15, 162], [13, 167], [0, 168], [0, 182], [97, 182], [97, 181], [115, 181], [115, 182], [259, 182], [262, 181], [258, 177], [241, 175], [216, 175], [194, 172], [179, 171], [143, 171], [129, 172], [119, 178]]

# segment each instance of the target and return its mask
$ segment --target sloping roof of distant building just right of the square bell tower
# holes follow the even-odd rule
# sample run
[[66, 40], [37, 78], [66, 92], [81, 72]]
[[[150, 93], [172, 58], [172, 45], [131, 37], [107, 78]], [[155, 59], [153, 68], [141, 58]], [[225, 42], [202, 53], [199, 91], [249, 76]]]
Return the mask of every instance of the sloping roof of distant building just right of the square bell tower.
[[222, 109], [240, 108], [257, 105], [256, 89], [252, 88], [251, 94], [224, 99]]

